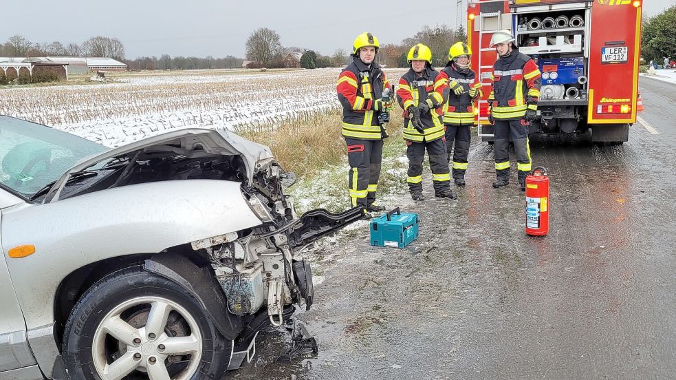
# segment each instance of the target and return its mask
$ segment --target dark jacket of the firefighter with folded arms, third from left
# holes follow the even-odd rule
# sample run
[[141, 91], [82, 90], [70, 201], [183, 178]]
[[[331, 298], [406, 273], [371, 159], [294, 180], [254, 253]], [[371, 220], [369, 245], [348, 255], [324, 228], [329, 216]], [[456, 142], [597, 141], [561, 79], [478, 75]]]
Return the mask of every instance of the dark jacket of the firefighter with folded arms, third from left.
[[[437, 81], [441, 79], [446, 83], [457, 83], [464, 90], [461, 95], [456, 95], [455, 92], [450, 91], [448, 101], [444, 105], [444, 123], [450, 125], [474, 124], [474, 101], [483, 98], [481, 81], [477, 81], [476, 76], [477, 74], [472, 69], [461, 69], [453, 62], [449, 62], [439, 72]], [[472, 87], [475, 88], [475, 96], [470, 96]]]

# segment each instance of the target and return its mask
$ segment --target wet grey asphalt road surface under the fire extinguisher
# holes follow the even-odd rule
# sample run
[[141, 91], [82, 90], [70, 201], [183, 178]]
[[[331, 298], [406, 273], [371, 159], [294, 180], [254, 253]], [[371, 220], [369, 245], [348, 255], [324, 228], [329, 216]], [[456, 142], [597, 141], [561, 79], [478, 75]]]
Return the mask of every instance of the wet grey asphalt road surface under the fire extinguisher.
[[[641, 78], [629, 142], [533, 138], [547, 167], [550, 231], [524, 233], [524, 194], [492, 189], [492, 147], [472, 141], [466, 188], [438, 200], [420, 236], [371, 247], [367, 226], [316, 257], [325, 281], [298, 313], [315, 357], [276, 363], [264, 335], [235, 379], [667, 379], [676, 370], [676, 85]], [[478, 140], [475, 138], [475, 140]]]

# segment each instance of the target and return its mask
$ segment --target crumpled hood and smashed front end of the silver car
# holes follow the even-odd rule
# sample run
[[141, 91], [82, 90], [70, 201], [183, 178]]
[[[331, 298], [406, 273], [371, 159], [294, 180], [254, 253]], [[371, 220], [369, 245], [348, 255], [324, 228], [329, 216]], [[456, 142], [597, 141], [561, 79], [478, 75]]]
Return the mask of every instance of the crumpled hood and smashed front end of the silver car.
[[[278, 165], [268, 147], [228, 131], [204, 129], [174, 131], [80, 162], [41, 200], [56, 202], [132, 184], [161, 189], [162, 182], [173, 180], [239, 182], [241, 198], [219, 201], [241, 199], [261, 223], [251, 226], [249, 222], [242, 229], [186, 244], [209, 263], [226, 295], [229, 313], [246, 317], [267, 310], [276, 326], [282, 323], [285, 307], [304, 301], [309, 310], [313, 302], [310, 264], [296, 260], [294, 253], [364, 217], [363, 210], [355, 208], [339, 214], [316, 209], [299, 218], [293, 199], [283, 193], [294, 175]], [[185, 196], [190, 199], [190, 194]], [[240, 215], [221, 217], [237, 220]]]

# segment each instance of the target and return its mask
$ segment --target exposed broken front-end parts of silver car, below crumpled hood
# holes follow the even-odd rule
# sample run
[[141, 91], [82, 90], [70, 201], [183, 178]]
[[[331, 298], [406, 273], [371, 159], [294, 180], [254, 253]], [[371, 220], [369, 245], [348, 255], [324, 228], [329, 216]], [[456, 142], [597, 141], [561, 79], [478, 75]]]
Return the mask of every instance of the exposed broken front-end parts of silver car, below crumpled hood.
[[257, 171], [251, 185], [242, 184], [243, 196], [263, 224], [192, 242], [203, 252], [228, 299], [228, 311], [251, 315], [267, 308], [270, 322], [280, 326], [283, 309], [305, 302], [312, 306], [314, 287], [307, 260], [296, 260], [302, 246], [364, 215], [356, 208], [342, 214], [318, 209], [298, 218], [291, 197], [283, 194], [290, 176], [276, 162]]

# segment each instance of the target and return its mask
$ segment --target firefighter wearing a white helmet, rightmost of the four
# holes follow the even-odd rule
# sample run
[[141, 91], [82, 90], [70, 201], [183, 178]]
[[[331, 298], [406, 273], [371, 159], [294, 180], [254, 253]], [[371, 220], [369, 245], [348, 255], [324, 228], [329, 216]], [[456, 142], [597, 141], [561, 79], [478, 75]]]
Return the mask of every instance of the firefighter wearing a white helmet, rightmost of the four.
[[493, 66], [492, 90], [488, 96], [490, 121], [494, 123], [494, 158], [497, 179], [494, 188], [510, 183], [510, 140], [516, 151], [519, 185], [525, 191], [526, 174], [532, 159], [528, 143], [530, 122], [536, 119], [540, 98], [538, 65], [519, 52], [509, 30], [495, 32], [490, 39], [499, 57]]

